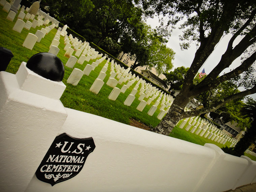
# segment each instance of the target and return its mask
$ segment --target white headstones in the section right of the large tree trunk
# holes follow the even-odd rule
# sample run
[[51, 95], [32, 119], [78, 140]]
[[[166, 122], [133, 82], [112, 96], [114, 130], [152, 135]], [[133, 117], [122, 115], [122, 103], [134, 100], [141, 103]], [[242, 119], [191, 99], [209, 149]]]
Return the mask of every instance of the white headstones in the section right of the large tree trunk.
[[201, 137], [211, 139], [218, 143], [225, 145], [227, 141], [231, 142], [229, 147], [234, 147], [237, 143], [237, 140], [231, 138], [227, 133], [218, 129], [213, 124], [206, 122], [200, 117], [191, 117], [181, 120], [180, 128], [185, 127], [186, 131], [200, 135]]

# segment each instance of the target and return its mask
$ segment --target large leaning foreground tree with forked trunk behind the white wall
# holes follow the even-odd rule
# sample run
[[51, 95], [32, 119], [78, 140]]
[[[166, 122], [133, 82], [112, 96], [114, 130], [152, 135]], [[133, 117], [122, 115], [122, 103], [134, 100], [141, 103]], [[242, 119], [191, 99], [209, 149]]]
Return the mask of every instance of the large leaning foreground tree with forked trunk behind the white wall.
[[[215, 111], [232, 100], [256, 93], [256, 86], [252, 84], [245, 91], [212, 101], [208, 107], [195, 111], [184, 111], [191, 99], [242, 74], [255, 62], [256, 4], [254, 0], [142, 0], [142, 3], [149, 13], [156, 11], [158, 14], [169, 17], [168, 24], [175, 24], [180, 18], [186, 17], [187, 20], [182, 24], [184, 34], [181, 39], [187, 40], [187, 42], [183, 44], [183, 47], [186, 48], [191, 39], [197, 41], [199, 46], [185, 76], [180, 94], [174, 99], [169, 112], [153, 131], [169, 135], [181, 119]], [[175, 17], [178, 14], [182, 17]], [[227, 33], [231, 33], [232, 37], [221, 60], [215, 63], [216, 67], [203, 81], [195, 85], [193, 79], [198, 70], [214, 51], [221, 37]], [[233, 44], [234, 40], [239, 42], [235, 45]], [[225, 68], [228, 68], [236, 58], [243, 54], [245, 57], [238, 67], [220, 75]]]

